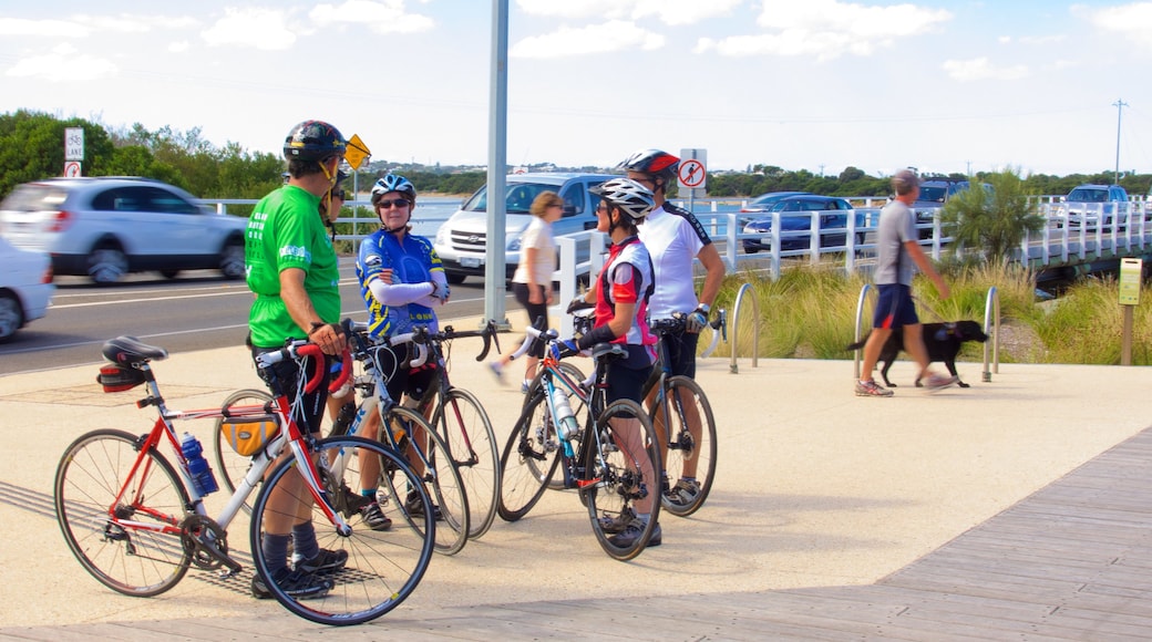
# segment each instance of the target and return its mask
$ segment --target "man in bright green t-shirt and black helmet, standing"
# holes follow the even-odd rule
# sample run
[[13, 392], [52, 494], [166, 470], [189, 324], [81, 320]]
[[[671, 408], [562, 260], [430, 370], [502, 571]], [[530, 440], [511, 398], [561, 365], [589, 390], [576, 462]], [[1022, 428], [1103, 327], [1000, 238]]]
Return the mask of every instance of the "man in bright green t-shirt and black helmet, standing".
[[[281, 349], [288, 338], [308, 338], [329, 356], [344, 349], [344, 337], [335, 326], [340, 321], [336, 253], [317, 215], [321, 200], [331, 198], [344, 148], [343, 136], [326, 122], [304, 121], [294, 127], [285, 138], [288, 182], [257, 202], [248, 220], [244, 263], [248, 286], [256, 295], [248, 323], [253, 358]], [[289, 399], [295, 397], [301, 373], [294, 361], [286, 359], [268, 376]], [[301, 426], [320, 429], [327, 389], [324, 382], [304, 397], [304, 416], [297, 418]], [[332, 587], [327, 575], [343, 568], [348, 553], [319, 548], [304, 482], [295, 475], [286, 481], [283, 490], [278, 487], [270, 497], [273, 510], [263, 525], [265, 557], [271, 564], [282, 560], [279, 568], [268, 570], [267, 579], [289, 595], [319, 597]], [[298, 500], [297, 496], [309, 498]], [[289, 541], [297, 559], [291, 568]], [[252, 578], [252, 595], [272, 596], [259, 574]]]

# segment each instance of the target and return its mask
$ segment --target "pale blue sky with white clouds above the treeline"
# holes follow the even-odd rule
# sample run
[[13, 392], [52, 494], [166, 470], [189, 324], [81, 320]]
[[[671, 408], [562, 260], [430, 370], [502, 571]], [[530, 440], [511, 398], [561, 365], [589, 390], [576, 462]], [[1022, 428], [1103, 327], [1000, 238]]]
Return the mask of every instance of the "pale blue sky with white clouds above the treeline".
[[[497, 1], [5, 2], [0, 113], [486, 165]], [[507, 161], [1152, 173], [1152, 1], [507, 0]]]

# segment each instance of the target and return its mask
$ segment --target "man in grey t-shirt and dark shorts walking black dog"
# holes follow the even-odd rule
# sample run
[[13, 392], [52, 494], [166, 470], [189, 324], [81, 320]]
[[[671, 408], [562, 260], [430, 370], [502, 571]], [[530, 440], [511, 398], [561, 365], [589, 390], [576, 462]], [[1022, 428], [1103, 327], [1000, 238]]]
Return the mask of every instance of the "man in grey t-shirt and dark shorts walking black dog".
[[872, 333], [864, 344], [862, 376], [856, 382], [857, 397], [890, 397], [892, 390], [882, 388], [872, 379], [872, 370], [880, 358], [888, 336], [894, 328], [903, 328], [904, 350], [919, 364], [917, 379], [929, 390], [940, 390], [956, 383], [955, 376], [942, 376], [929, 372], [929, 354], [924, 346], [924, 328], [912, 304], [912, 263], [932, 280], [941, 299], [952, 291], [943, 278], [932, 267], [932, 261], [920, 249], [916, 234], [911, 205], [920, 193], [920, 179], [909, 169], [902, 169], [892, 177], [896, 198], [880, 212], [877, 227], [877, 262], [872, 275], [879, 296], [872, 316]]

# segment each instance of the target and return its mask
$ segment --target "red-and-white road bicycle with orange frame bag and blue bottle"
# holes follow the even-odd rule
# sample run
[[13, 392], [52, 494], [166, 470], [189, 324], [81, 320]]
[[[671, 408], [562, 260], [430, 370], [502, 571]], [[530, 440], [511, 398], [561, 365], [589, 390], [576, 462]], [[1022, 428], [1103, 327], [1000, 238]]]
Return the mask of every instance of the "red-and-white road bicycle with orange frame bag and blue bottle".
[[[396, 452], [357, 437], [316, 440], [301, 430], [294, 419], [301, 416], [300, 407], [289, 404], [279, 385], [270, 403], [170, 410], [150, 365], [167, 358], [162, 347], [118, 337], [105, 343], [103, 353], [114, 364], [101, 368], [99, 381], [105, 390], [145, 384], [147, 395], [136, 405], [156, 407], [158, 418], [143, 435], [92, 430], [68, 446], [56, 468], [60, 529], [73, 555], [98, 581], [124, 595], [147, 597], [176, 586], [194, 566], [222, 579], [235, 578], [242, 566], [229, 550], [228, 527], [260, 486], [249, 528], [252, 561], [271, 595], [286, 609], [320, 624], [355, 625], [387, 613], [411, 595], [431, 559], [435, 522], [419, 477]], [[286, 359], [295, 360], [304, 373], [296, 390], [298, 406], [303, 393], [324, 381], [324, 356], [316, 344], [290, 341], [281, 350], [257, 357], [257, 365], [267, 372]], [[174, 422], [225, 416], [248, 420], [252, 430], [271, 425], [271, 430], [235, 492], [212, 518], [204, 498], [214, 490], [214, 482], [203, 476], [200, 465], [206, 463], [195, 450], [185, 457]], [[161, 452], [165, 444], [168, 457]], [[359, 492], [359, 461], [365, 457], [394, 472], [393, 479], [384, 480], [387, 486], [417, 489], [415, 506], [424, 517], [409, 514], [406, 527], [388, 533], [373, 532], [361, 521], [358, 510], [366, 499]], [[301, 487], [306, 491], [291, 494], [291, 488]], [[283, 510], [278, 512], [278, 506]], [[283, 521], [285, 513], [289, 523], [309, 515], [321, 549], [348, 553], [342, 568], [316, 578], [324, 590], [308, 599], [270, 581], [272, 570], [282, 567], [285, 560], [267, 559], [260, 542], [266, 520]], [[301, 572], [296, 565], [296, 573]]]

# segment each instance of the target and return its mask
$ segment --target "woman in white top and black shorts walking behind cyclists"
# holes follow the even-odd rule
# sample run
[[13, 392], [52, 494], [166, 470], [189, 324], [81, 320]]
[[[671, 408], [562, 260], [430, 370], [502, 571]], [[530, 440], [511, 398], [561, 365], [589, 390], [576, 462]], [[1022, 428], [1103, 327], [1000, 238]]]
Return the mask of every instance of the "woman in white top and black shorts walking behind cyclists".
[[[544, 328], [547, 329], [548, 306], [552, 305], [552, 273], [556, 269], [556, 243], [552, 238], [552, 223], [563, 215], [564, 201], [556, 192], [540, 192], [532, 201], [531, 213], [532, 222], [521, 237], [520, 265], [511, 277], [511, 292], [528, 312], [529, 324], [544, 318]], [[528, 390], [528, 384], [536, 376], [536, 367], [540, 357], [544, 357], [543, 350], [541, 344], [539, 353], [532, 352], [525, 360], [524, 382], [520, 385], [522, 392]], [[501, 381], [510, 354], [511, 352], [505, 354], [490, 366]]]

